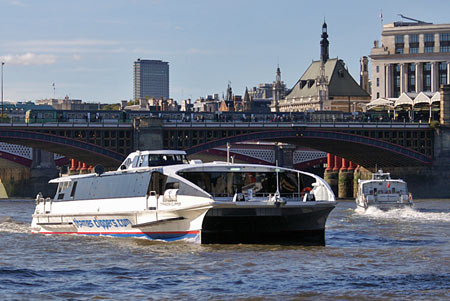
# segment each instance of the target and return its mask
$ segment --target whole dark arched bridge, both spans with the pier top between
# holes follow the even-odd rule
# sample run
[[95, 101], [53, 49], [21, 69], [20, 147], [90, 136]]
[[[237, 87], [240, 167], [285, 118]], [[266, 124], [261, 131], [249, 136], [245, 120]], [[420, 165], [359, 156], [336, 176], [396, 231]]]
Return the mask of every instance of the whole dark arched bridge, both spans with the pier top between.
[[365, 167], [431, 164], [434, 129], [404, 122], [182, 122], [141, 119], [134, 124], [0, 124], [0, 141], [117, 167], [134, 149], [205, 152], [227, 142], [273, 141], [332, 153]]

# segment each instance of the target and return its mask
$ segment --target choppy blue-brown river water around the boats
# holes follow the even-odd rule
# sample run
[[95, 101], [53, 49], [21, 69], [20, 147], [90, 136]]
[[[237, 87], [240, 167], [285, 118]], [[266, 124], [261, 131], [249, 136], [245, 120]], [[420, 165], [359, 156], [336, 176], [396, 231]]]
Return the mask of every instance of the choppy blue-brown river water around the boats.
[[0, 299], [449, 299], [450, 201], [358, 213], [325, 247], [30, 234], [33, 201], [0, 201]]

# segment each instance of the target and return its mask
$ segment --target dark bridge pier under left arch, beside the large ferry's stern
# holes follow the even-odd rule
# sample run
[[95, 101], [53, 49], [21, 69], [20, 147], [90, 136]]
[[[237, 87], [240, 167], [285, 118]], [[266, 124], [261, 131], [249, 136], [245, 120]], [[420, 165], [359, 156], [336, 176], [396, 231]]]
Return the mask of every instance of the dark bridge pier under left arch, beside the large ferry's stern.
[[56, 192], [56, 185], [48, 184], [48, 181], [58, 177], [53, 153], [33, 148], [33, 163], [30, 167], [30, 184], [28, 195], [36, 196], [42, 192], [44, 196], [53, 197]]

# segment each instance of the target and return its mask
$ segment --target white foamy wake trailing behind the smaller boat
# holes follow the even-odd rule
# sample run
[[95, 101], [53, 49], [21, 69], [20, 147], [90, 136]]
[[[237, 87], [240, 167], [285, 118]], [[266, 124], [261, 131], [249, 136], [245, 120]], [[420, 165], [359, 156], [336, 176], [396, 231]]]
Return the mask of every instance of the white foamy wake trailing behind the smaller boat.
[[355, 210], [356, 214], [373, 218], [395, 219], [403, 221], [430, 221], [430, 222], [450, 222], [449, 212], [420, 212], [413, 208], [392, 209], [383, 211], [375, 207], [369, 207], [365, 212]]

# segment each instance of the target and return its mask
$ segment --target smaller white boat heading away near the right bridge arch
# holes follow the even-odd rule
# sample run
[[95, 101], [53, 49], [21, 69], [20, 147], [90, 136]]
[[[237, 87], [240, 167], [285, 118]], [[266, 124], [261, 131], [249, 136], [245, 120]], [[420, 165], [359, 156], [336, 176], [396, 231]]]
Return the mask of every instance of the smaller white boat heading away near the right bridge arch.
[[356, 207], [367, 210], [375, 207], [381, 210], [412, 207], [412, 196], [408, 185], [401, 179], [391, 179], [387, 172], [379, 170], [370, 180], [358, 180]]

